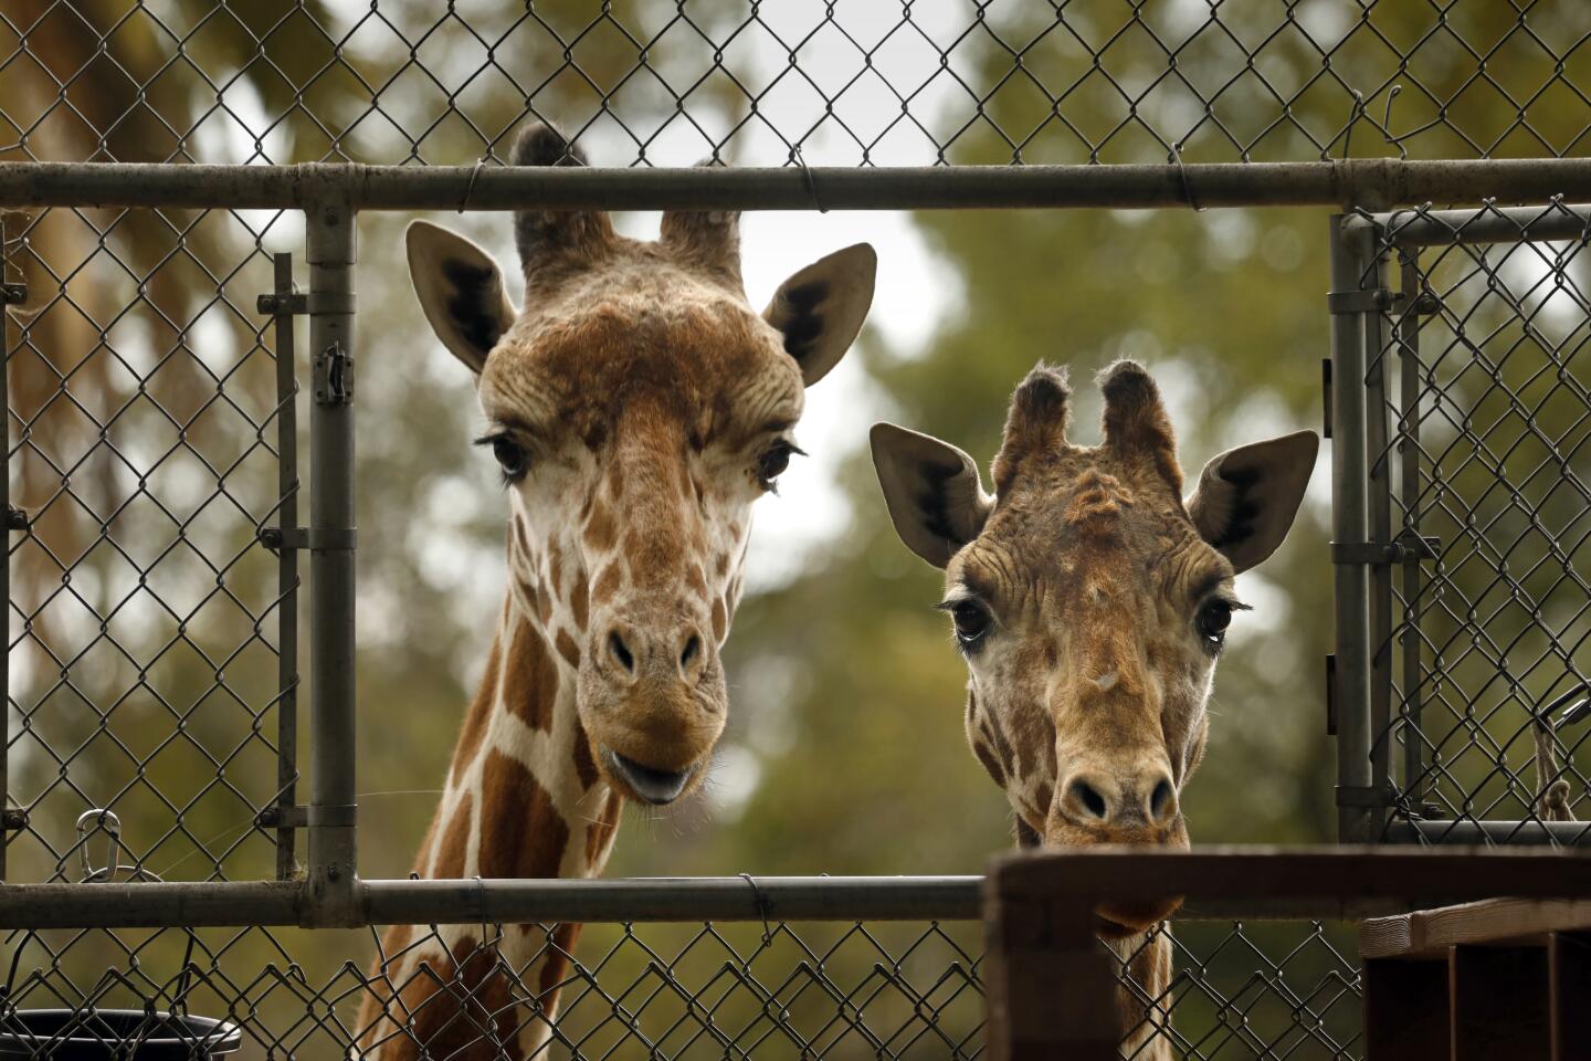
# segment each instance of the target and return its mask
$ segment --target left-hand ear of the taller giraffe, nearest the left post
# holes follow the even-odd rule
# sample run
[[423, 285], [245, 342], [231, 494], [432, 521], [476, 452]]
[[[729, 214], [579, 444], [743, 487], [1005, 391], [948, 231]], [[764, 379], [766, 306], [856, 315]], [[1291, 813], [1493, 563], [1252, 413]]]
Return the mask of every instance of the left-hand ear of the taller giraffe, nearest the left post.
[[430, 221], [410, 221], [404, 243], [409, 278], [431, 329], [455, 358], [480, 375], [492, 347], [514, 323], [503, 270], [463, 235]]

